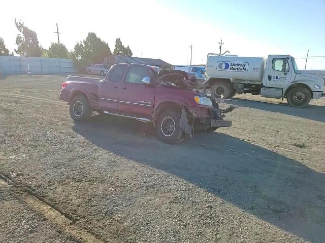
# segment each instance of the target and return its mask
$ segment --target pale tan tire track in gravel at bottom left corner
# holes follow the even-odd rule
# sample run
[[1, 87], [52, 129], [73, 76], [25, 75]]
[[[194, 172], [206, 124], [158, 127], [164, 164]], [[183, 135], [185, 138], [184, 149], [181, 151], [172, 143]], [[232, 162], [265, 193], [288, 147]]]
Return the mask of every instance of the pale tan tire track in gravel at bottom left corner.
[[[19, 193], [16, 193], [21, 199], [34, 211], [40, 212], [47, 220], [54, 223], [58, 228], [62, 229], [66, 233], [72, 236], [72, 238], [78, 242], [89, 243], [104, 243], [104, 242], [122, 242], [120, 240], [103, 240], [96, 237], [92, 233], [88, 232], [76, 225], [77, 219], [73, 219], [71, 216], [63, 214], [55, 207], [49, 205], [46, 200], [33, 193], [27, 186], [22, 183], [16, 182], [11, 178], [0, 173], [0, 186], [15, 186], [19, 188]], [[15, 191], [13, 191], [15, 193]]]

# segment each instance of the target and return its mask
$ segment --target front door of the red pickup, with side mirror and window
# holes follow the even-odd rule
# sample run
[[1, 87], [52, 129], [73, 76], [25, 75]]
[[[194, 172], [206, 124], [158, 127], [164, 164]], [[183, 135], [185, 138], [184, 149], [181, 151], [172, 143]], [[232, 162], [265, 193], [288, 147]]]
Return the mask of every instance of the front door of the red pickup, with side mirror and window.
[[142, 118], [151, 118], [155, 87], [142, 83], [144, 77], [153, 77], [145, 66], [132, 66], [128, 69], [124, 83], [119, 87], [117, 110], [119, 113]]

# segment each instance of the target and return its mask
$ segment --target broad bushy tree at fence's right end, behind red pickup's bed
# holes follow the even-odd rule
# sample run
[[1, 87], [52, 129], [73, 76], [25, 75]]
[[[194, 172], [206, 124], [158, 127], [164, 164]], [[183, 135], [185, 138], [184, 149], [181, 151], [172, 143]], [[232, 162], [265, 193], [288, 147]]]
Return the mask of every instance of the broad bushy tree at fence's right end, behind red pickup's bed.
[[102, 63], [110, 54], [112, 53], [108, 44], [93, 32], [89, 32], [83, 42], [77, 43], [71, 52], [75, 67], [79, 71], [83, 71], [89, 63]]

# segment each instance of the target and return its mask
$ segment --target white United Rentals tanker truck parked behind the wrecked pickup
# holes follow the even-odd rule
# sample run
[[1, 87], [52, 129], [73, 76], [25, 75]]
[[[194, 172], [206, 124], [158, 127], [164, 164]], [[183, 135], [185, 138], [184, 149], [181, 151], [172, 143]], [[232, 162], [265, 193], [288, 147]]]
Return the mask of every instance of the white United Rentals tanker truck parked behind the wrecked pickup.
[[286, 98], [293, 107], [304, 107], [310, 99], [324, 96], [324, 80], [298, 70], [289, 55], [238, 57], [209, 53], [203, 92], [210, 88], [213, 97], [230, 98], [251, 93], [269, 98]]

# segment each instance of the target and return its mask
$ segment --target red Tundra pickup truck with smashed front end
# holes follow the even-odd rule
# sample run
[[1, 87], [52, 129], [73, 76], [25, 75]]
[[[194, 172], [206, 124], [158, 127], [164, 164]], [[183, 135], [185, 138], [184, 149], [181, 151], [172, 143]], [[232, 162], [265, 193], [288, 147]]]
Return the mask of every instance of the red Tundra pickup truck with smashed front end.
[[231, 127], [223, 120], [218, 103], [199, 91], [196, 80], [184, 71], [160, 70], [141, 64], [115, 64], [104, 79], [68, 76], [58, 93], [70, 105], [76, 121], [87, 120], [93, 111], [152, 123], [166, 143], [179, 143], [192, 131]]

